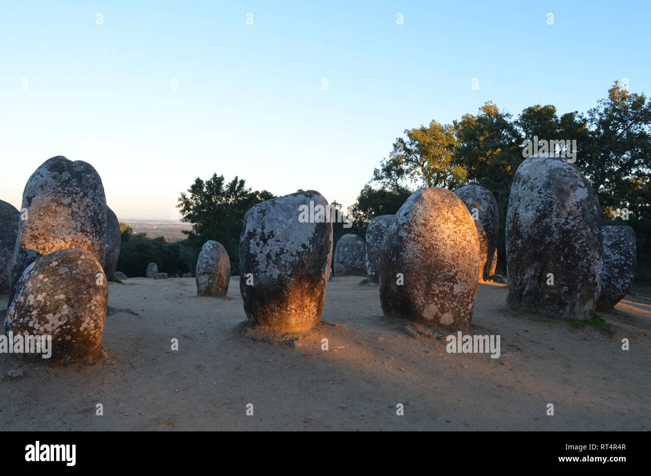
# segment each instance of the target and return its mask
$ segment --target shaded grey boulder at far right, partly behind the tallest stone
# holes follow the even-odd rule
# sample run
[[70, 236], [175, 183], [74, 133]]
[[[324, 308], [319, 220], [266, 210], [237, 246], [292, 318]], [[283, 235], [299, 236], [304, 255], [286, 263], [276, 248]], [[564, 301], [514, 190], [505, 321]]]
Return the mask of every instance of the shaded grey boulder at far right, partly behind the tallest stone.
[[603, 281], [597, 307], [607, 311], [622, 300], [633, 285], [637, 253], [635, 231], [631, 227], [602, 227], [602, 234]]

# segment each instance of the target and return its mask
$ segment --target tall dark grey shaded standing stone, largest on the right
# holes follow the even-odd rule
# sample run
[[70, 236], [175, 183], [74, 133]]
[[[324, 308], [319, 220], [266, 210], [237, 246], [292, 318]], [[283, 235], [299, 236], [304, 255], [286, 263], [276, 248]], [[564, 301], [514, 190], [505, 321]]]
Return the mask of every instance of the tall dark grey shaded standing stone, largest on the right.
[[507, 307], [592, 318], [602, 287], [601, 215], [594, 189], [566, 158], [525, 159], [506, 214]]

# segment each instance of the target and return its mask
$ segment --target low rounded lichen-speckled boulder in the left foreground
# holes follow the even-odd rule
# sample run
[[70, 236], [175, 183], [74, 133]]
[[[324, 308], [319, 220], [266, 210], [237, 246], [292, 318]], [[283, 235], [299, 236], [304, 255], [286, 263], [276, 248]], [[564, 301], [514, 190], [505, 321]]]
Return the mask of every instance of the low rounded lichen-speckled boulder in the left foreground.
[[92, 362], [102, 350], [108, 296], [104, 269], [90, 251], [54, 251], [29, 264], [18, 280], [5, 333], [51, 335], [52, 361]]

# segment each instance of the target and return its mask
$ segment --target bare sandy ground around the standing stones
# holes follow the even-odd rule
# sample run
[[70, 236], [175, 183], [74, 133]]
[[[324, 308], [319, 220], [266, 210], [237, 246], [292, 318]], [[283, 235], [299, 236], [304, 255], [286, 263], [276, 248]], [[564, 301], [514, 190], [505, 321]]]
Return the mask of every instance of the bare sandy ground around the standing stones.
[[[194, 279], [110, 283], [116, 311], [106, 318], [103, 363], [54, 367], [0, 354], [0, 430], [651, 429], [643, 296], [599, 313], [615, 324], [611, 337], [510, 313], [505, 286], [480, 284], [465, 333], [501, 335], [501, 356], [491, 359], [449, 354], [443, 339], [383, 318], [378, 287], [361, 279], [329, 283], [322, 319], [336, 325], [318, 326], [297, 348], [242, 337], [238, 277], [227, 298], [197, 297]], [[7, 375], [16, 371], [23, 375]]]

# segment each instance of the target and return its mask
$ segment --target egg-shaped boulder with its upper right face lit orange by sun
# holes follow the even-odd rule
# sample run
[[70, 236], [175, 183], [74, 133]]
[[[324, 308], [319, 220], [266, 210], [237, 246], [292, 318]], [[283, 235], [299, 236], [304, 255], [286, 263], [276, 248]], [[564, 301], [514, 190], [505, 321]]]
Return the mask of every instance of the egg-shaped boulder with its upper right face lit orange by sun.
[[380, 255], [383, 313], [466, 329], [478, 275], [477, 228], [461, 199], [437, 187], [411, 194], [389, 225]]

